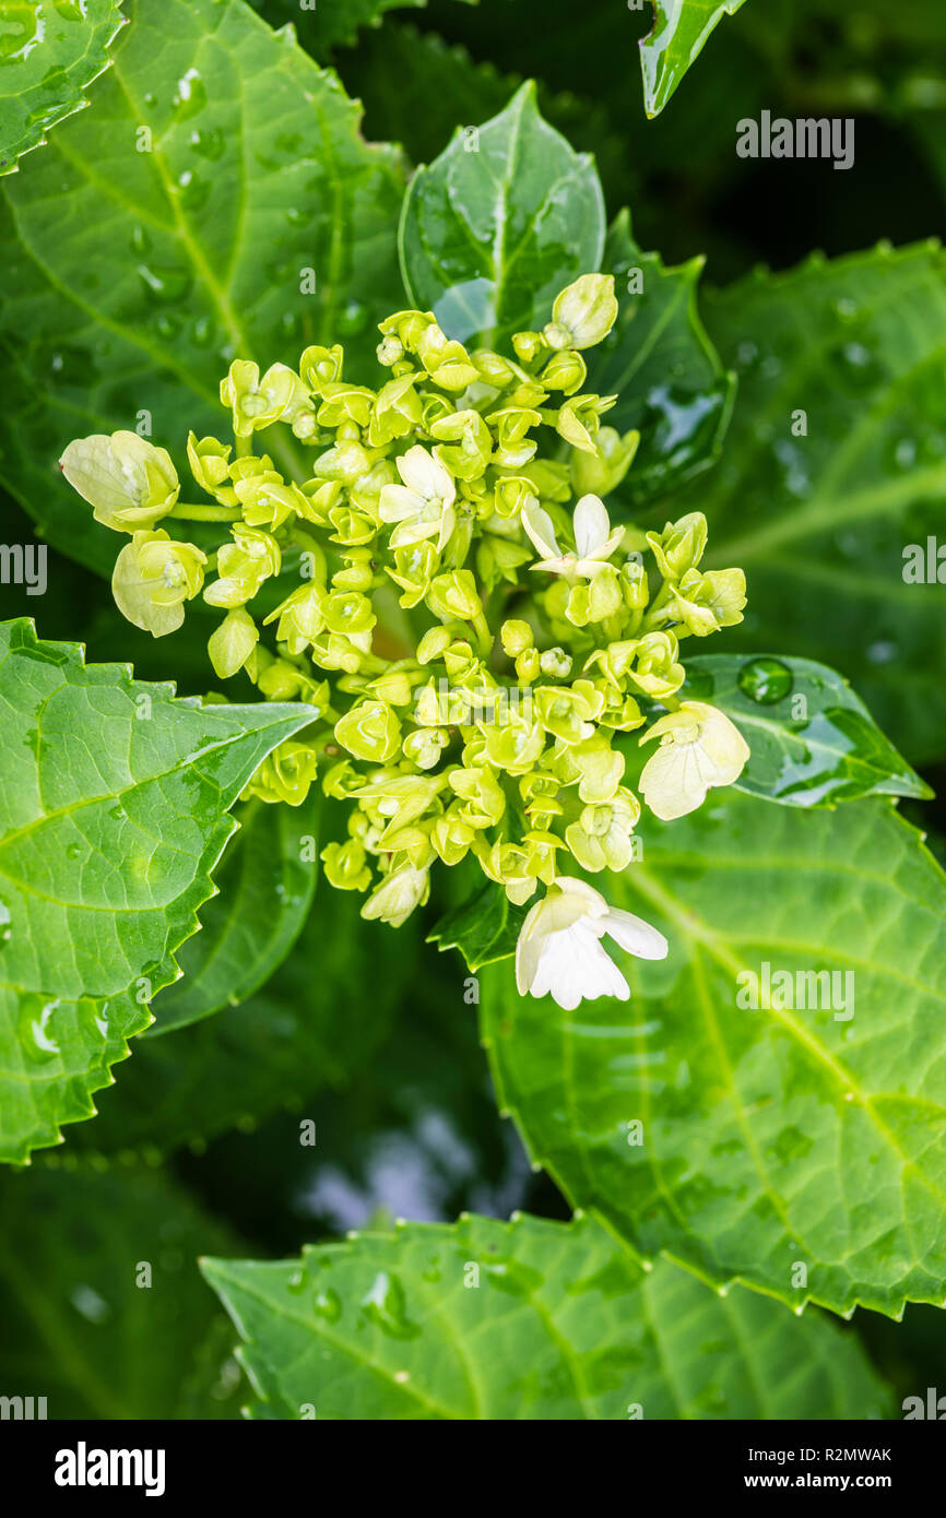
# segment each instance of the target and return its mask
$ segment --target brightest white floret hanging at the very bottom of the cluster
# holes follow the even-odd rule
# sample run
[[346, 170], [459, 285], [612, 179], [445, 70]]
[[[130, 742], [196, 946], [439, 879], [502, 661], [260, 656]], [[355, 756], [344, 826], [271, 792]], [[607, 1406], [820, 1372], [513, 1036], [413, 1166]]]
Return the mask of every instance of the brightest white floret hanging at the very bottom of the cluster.
[[516, 985], [521, 996], [551, 993], [571, 1013], [582, 1000], [630, 996], [627, 981], [601, 947], [607, 934], [638, 959], [665, 959], [667, 940], [633, 912], [607, 905], [583, 880], [559, 876], [531, 908], [516, 943]]

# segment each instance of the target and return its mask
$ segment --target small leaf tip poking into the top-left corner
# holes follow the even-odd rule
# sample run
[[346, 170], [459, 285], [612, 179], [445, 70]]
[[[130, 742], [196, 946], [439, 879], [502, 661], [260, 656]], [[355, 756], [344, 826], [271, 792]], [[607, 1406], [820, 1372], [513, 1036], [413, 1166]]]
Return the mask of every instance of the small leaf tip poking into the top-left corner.
[[0, 18], [0, 175], [88, 105], [125, 17], [118, 0], [6, 0]]

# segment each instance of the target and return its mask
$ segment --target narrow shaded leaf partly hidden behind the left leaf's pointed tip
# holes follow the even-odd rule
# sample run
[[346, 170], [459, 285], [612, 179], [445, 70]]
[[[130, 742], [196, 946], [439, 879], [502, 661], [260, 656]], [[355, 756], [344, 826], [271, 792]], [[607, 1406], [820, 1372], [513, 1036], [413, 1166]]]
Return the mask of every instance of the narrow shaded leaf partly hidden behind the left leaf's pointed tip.
[[244, 1002], [282, 964], [308, 917], [317, 877], [317, 792], [299, 808], [249, 802], [238, 820], [240, 832], [217, 870], [219, 894], [200, 912], [202, 931], [178, 955], [181, 979], [152, 1006], [149, 1038]]

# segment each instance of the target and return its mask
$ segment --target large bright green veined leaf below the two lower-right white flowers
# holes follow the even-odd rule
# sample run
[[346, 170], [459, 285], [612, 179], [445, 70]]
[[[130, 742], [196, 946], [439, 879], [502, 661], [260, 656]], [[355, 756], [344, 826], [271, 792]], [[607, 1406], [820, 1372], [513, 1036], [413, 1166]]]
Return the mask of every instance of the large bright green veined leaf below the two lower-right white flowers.
[[[727, 791], [642, 838], [642, 862], [595, 876], [670, 940], [657, 962], [615, 949], [630, 1002], [563, 1013], [519, 997], [507, 965], [481, 982], [500, 1101], [534, 1158], [717, 1286], [843, 1313], [944, 1305], [943, 871], [882, 802]], [[794, 979], [821, 972], [831, 996]]]

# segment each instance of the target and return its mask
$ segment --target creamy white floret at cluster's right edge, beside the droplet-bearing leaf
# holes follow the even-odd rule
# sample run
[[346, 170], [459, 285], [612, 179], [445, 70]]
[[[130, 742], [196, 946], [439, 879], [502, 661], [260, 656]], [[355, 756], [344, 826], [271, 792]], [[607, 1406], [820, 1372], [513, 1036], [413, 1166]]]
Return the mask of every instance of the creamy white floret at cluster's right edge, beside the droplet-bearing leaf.
[[738, 727], [705, 701], [680, 701], [679, 710], [661, 716], [641, 742], [651, 738], [659, 738], [661, 747], [641, 771], [641, 792], [665, 823], [694, 812], [711, 786], [738, 780], [749, 759]]

